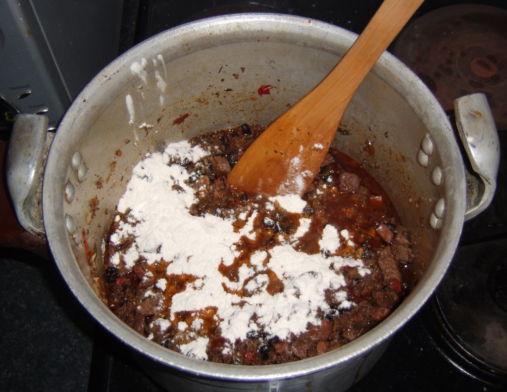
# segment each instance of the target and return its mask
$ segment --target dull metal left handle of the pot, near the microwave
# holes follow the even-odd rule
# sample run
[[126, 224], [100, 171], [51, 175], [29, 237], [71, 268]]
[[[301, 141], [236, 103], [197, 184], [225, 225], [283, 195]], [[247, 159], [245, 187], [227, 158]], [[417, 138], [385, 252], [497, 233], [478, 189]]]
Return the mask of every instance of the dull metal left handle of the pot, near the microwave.
[[42, 218], [42, 178], [53, 133], [44, 115], [18, 114], [7, 151], [7, 187], [21, 226], [46, 239]]

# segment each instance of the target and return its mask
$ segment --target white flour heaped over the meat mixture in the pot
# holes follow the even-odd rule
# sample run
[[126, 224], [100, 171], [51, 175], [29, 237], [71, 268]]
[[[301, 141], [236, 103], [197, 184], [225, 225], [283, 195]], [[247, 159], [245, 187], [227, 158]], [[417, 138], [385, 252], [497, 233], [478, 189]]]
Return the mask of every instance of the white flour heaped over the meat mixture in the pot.
[[[118, 204], [118, 211], [125, 213], [130, 210], [130, 217], [128, 223], [121, 222], [111, 241], [119, 244], [128, 235], [135, 236], [135, 241], [125, 254], [114, 255], [113, 264], [132, 268], [139, 257], [149, 264], [163, 258], [170, 262], [166, 276], [190, 274], [197, 278], [187, 284], [185, 291], [172, 297], [170, 319], [157, 319], [154, 323], [165, 330], [176, 312], [213, 307], [221, 320], [222, 336], [229, 342], [245, 339], [247, 332], [258, 329], [286, 339], [291, 332], [299, 334], [306, 331], [308, 323], [320, 324], [317, 312], [329, 310], [324, 290], [336, 292], [336, 297], [343, 301], [342, 307], [352, 306], [344, 290], [345, 280], [338, 273], [340, 267], [357, 266], [363, 276], [370, 271], [360, 260], [333, 256], [341, 241], [351, 244], [349, 233], [340, 232], [333, 226], [324, 228], [319, 241], [321, 250], [329, 253], [330, 257], [297, 252], [293, 243], [308, 230], [310, 220], [307, 218], [300, 220], [296, 234], [288, 241], [250, 255], [249, 262], [239, 268], [238, 281], [230, 281], [219, 272], [221, 263], [231, 265], [239, 256], [236, 245], [240, 237], [252, 238], [255, 235], [253, 221], [256, 212], [250, 211], [248, 219], [248, 215], [242, 215], [247, 224], [238, 231], [233, 228], [233, 220], [213, 215], [190, 215], [189, 207], [196, 198], [193, 189], [185, 184], [189, 173], [177, 164], [168, 166], [169, 155], [178, 156], [182, 161], [196, 161], [207, 154], [199, 147], [191, 148], [188, 142], [179, 142], [169, 145], [164, 153], [147, 156], [134, 167], [127, 191]], [[272, 201], [286, 210], [299, 213], [306, 205], [294, 195], [273, 198]], [[268, 272], [271, 271], [283, 282], [283, 291], [274, 295], [266, 290]], [[229, 293], [223, 285], [231, 289]], [[166, 278], [161, 278], [148, 295], [160, 295], [166, 287]], [[249, 296], [240, 298], [231, 294], [242, 288]], [[238, 305], [240, 301], [241, 306]], [[254, 315], [257, 316], [256, 322], [253, 321]], [[196, 319], [190, 327], [180, 322], [178, 329], [188, 330], [192, 336], [200, 325], [202, 322]], [[208, 339], [200, 337], [179, 348], [188, 355], [206, 359], [207, 344]], [[230, 348], [224, 352], [227, 350]]]

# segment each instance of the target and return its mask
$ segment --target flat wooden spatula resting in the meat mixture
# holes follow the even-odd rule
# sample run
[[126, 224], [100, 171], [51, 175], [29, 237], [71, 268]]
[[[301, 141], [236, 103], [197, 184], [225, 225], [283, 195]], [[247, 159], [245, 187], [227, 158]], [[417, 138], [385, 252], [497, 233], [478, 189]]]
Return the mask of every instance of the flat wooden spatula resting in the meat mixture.
[[248, 147], [227, 182], [248, 194], [303, 195], [352, 95], [424, 0], [384, 0], [345, 56]]

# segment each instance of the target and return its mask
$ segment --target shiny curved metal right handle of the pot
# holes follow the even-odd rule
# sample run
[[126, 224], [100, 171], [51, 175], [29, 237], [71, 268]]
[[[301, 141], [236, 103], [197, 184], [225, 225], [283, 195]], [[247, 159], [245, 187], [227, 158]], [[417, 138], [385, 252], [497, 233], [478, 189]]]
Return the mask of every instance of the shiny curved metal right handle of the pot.
[[484, 211], [495, 194], [500, 143], [486, 95], [475, 93], [454, 101], [456, 125], [472, 169], [466, 173], [465, 221]]

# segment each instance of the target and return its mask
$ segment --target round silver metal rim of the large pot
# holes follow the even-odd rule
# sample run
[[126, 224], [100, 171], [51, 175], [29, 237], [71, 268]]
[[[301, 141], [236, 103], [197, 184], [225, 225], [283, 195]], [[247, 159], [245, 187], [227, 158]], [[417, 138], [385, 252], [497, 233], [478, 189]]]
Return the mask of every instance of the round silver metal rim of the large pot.
[[[434, 111], [434, 113], [429, 117], [429, 122], [427, 124], [428, 129], [438, 129], [438, 127], [442, 127], [443, 124], [446, 132], [435, 132], [431, 136], [434, 138], [437, 145], [445, 144], [446, 146], [450, 146], [448, 149], [449, 151], [446, 151], [446, 154], [442, 157], [443, 165], [448, 171], [446, 178], [451, 179], [450, 181], [452, 182], [451, 184], [448, 182], [448, 190], [446, 190], [446, 192], [449, 192], [447, 196], [447, 200], [449, 200], [447, 211], [450, 211], [450, 213], [447, 214], [441, 229], [443, 232], [448, 232], [449, 236], [446, 241], [441, 241], [441, 243], [438, 244], [436, 254], [434, 255], [434, 259], [440, 258], [444, 261], [438, 263], [438, 265], [435, 265], [437, 263], [432, 263], [426, 275], [406, 301], [379, 326], [339, 349], [303, 361], [268, 366], [231, 366], [189, 358], [184, 354], [176, 353], [149, 341], [120, 322], [120, 320], [98, 299], [82, 276], [71, 249], [70, 237], [62, 230], [61, 226], [63, 225], [61, 222], [64, 217], [64, 201], [61, 196], [62, 192], [60, 188], [63, 188], [65, 184], [65, 172], [61, 169], [58, 171], [58, 169], [62, 166], [67, 167], [69, 157], [74, 150], [72, 146], [65, 145], [60, 146], [63, 149], [55, 152], [55, 146], [61, 145], [61, 140], [64, 136], [72, 131], [73, 123], [81, 121], [83, 116], [90, 116], [86, 114], [87, 111], [96, 113], [96, 109], [92, 110], [94, 105], [100, 106], [100, 100], [106, 100], [106, 97], [100, 97], [101, 87], [105, 83], [118, 83], [117, 90], [123, 90], [133, 78], [130, 73], [124, 70], [126, 67], [125, 64], [130, 64], [140, 57], [149, 58], [153, 54], [156, 54], [160, 41], [176, 42], [172, 47], [174, 50], [177, 50], [178, 43], [187, 39], [186, 33], [188, 31], [199, 31], [200, 29], [204, 29], [204, 27], [207, 29], [212, 27], [213, 31], [219, 34], [227, 29], [230, 30], [231, 27], [238, 28], [238, 26], [243, 29], [255, 29], [256, 24], [261, 21], [264, 26], [263, 32], [266, 34], [276, 29], [294, 31], [295, 34], [301, 31], [308, 31], [308, 33], [315, 33], [317, 31], [318, 34], [325, 35], [327, 43], [340, 38], [350, 43], [350, 45], [356, 37], [354, 33], [340, 27], [324, 22], [310, 21], [308, 18], [258, 13], [212, 17], [162, 32], [137, 45], [114, 60], [110, 65], [105, 67], [76, 98], [63, 118], [54, 138], [53, 146], [47, 159], [43, 188], [45, 229], [54, 259], [71, 291], [94, 318], [99, 320], [99, 323], [104, 328], [133, 347], [136, 351], [147, 355], [161, 364], [169, 365], [194, 375], [211, 378], [219, 377], [237, 381], [286, 379], [310, 374], [358, 357], [361, 353], [364, 353], [388, 339], [389, 336], [402, 327], [403, 324], [417, 312], [437, 287], [457, 246], [465, 211], [464, 197], [460, 198], [459, 201], [452, 201], [456, 199], [455, 197], [453, 198], [452, 193], [465, 194], [465, 182], [461, 155], [459, 154], [453, 134], [450, 131], [451, 127], [445, 113], [426, 86], [419, 81], [408, 67], [389, 53], [385, 53], [372, 72], [383, 80], [389, 79], [394, 89], [407, 96], [409, 104], [415, 112], [424, 111], [425, 109], [422, 108], [433, 108], [432, 111]], [[270, 28], [272, 30], [266, 26], [271, 26]], [[329, 46], [327, 43], [326, 45]], [[324, 46], [324, 44], [322, 46]], [[104, 75], [110, 76], [110, 79], [104, 78]], [[392, 78], [394, 78], [394, 80]], [[414, 92], [417, 92], [417, 94]], [[456, 164], [456, 162], [459, 164]], [[57, 219], [54, 217], [57, 217]]]

